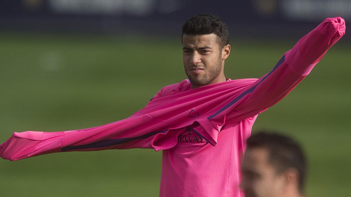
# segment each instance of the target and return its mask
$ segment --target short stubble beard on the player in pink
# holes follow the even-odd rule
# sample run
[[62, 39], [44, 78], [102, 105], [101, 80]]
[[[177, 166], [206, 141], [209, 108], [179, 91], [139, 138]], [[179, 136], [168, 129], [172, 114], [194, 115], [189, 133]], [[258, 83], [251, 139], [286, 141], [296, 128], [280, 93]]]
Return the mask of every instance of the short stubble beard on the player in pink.
[[221, 54], [219, 55], [215, 65], [207, 68], [207, 66], [204, 64], [202, 67], [204, 67], [206, 73], [200, 78], [191, 75], [188, 73], [188, 70], [186, 72], [186, 75], [188, 76], [188, 79], [193, 86], [205, 86], [219, 76], [222, 68]]

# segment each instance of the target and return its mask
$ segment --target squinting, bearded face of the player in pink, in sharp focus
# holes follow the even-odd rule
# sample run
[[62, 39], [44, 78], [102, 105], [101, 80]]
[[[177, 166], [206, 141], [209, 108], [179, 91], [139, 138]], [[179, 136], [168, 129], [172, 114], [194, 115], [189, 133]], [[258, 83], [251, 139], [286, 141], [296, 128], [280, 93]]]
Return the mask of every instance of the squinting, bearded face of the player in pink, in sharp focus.
[[222, 48], [217, 39], [213, 33], [183, 35], [184, 69], [193, 87], [225, 81]]

